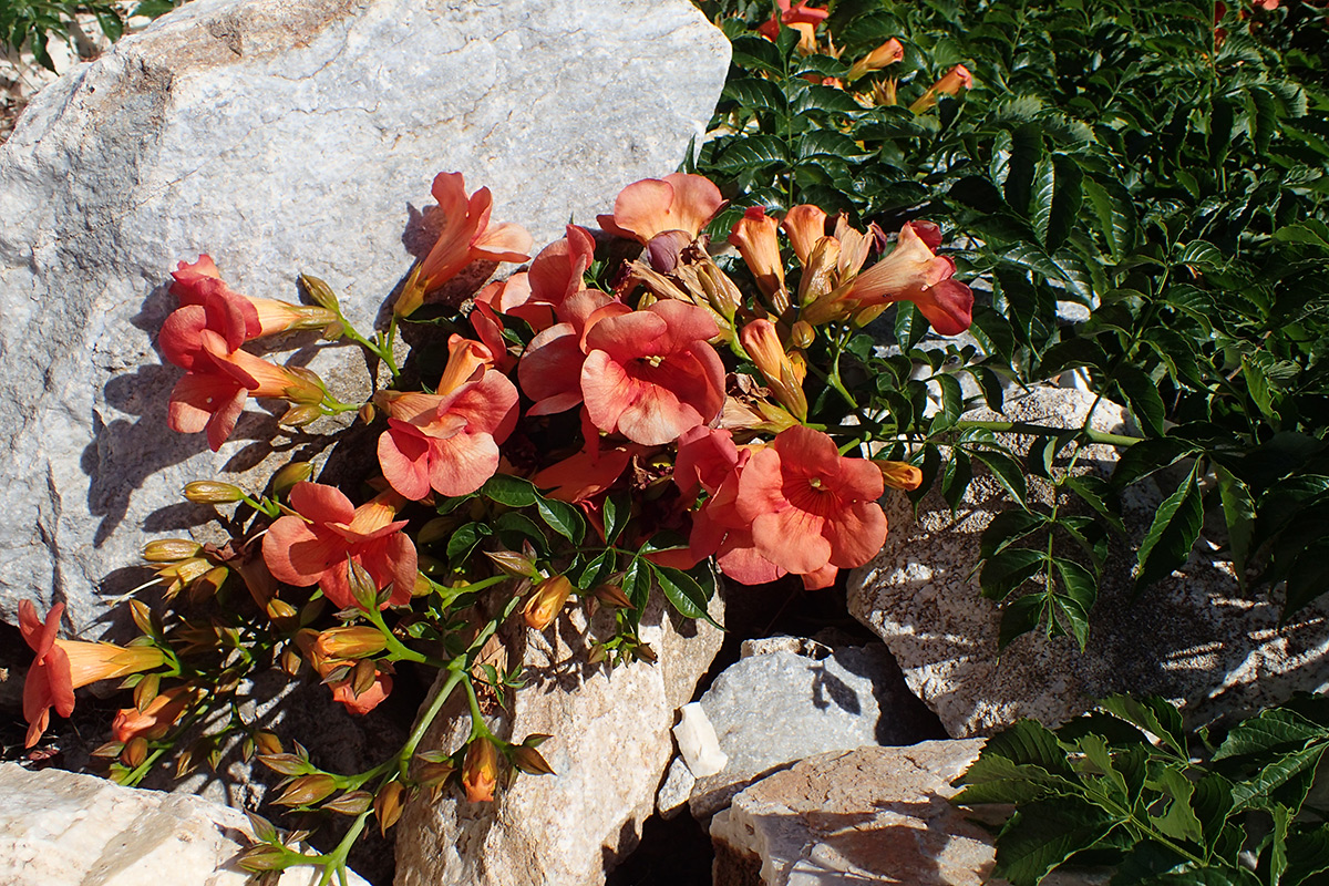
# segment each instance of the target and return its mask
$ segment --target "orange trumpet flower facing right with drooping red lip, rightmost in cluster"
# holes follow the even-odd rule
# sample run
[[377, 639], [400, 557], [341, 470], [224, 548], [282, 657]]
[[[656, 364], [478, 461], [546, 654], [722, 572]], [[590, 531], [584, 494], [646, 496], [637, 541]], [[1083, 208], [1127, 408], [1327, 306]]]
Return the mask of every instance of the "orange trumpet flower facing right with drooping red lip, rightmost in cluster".
[[804, 308], [801, 319], [817, 324], [892, 302], [913, 302], [941, 335], [969, 328], [974, 295], [953, 280], [956, 264], [933, 254], [910, 223], [900, 230], [885, 259]]

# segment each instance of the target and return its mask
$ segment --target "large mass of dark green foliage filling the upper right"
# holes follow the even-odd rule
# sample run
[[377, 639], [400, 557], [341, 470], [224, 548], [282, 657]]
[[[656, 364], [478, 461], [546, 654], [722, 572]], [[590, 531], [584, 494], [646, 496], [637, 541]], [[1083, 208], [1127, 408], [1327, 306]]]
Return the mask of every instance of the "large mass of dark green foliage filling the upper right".
[[[1329, 542], [1312, 529], [1329, 517], [1329, 13], [1229, 3], [1219, 32], [1199, 0], [839, 0], [824, 54], [801, 54], [791, 29], [754, 33], [767, 3], [699, 5], [735, 49], [696, 163], [732, 199], [712, 235], [752, 205], [817, 202], [888, 234], [928, 219], [975, 288], [977, 349], [925, 337], [904, 304], [873, 327], [897, 356], [848, 349], [829, 371], [855, 408], [813, 405], [819, 421], [857, 412], [874, 438], [904, 441], [952, 506], [978, 470], [1006, 487], [1023, 517], [993, 525], [981, 566], [1007, 608], [1003, 642], [1039, 624], [1086, 642], [1103, 546], [1127, 535], [1116, 494], [1151, 477], [1166, 502], [1130, 539], [1139, 591], [1184, 563], [1205, 510], [1221, 513], [1243, 582], [1251, 567], [1286, 587], [1286, 614], [1329, 590]], [[845, 78], [890, 37], [898, 64], [844, 90], [809, 82]], [[956, 64], [974, 88], [910, 112]], [[888, 80], [896, 105], [872, 97]], [[1088, 319], [1059, 319], [1059, 303]], [[958, 421], [978, 402], [957, 372], [999, 410], [1003, 380], [1067, 371], [1134, 420], [1140, 442], [1108, 441], [1123, 448], [1111, 484], [1069, 476], [1090, 434], [1021, 429], [1043, 437], [1021, 461], [993, 444], [1002, 428]], [[1095, 519], [1031, 502], [1026, 476]]]

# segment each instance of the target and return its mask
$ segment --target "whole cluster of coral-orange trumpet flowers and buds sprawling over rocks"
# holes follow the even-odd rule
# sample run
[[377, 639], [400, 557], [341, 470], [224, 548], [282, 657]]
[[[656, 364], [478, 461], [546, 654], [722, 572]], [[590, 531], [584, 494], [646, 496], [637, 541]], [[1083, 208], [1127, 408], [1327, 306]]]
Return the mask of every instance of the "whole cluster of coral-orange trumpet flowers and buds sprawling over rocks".
[[[805, 5], [785, 12], [785, 24], [820, 21]], [[460, 174], [439, 175], [433, 193], [437, 240], [372, 337], [314, 278], [302, 284], [316, 304], [300, 306], [234, 292], [206, 255], [173, 274], [181, 307], [159, 337], [185, 371], [173, 429], [206, 432], [215, 450], [251, 396], [290, 401], [296, 425], [355, 410], [369, 433], [352, 440], [372, 441], [377, 470], [363, 494], [315, 482], [303, 462], [255, 495], [190, 484], [194, 502], [235, 505], [230, 542], [148, 546], [162, 598], [155, 610], [132, 603], [142, 631], [132, 646], [61, 640], [61, 607], [43, 622], [25, 606], [29, 745], [52, 708], [70, 713], [74, 688], [124, 679], [134, 707], [98, 754], [132, 782], [217, 696], [234, 699], [237, 662], [307, 669], [358, 715], [389, 696], [399, 664], [436, 667], [447, 680], [432, 713], [367, 773], [327, 773], [255, 724], [226, 727], [287, 778], [275, 802], [375, 814], [385, 829], [409, 792], [451, 782], [485, 801], [508, 769], [550, 772], [536, 749], [546, 736], [497, 736], [481, 704], [518, 680], [482, 658], [518, 611], [534, 631], [573, 604], [605, 611], [611, 636], [595, 636], [591, 662], [653, 662], [638, 627], [657, 588], [683, 615], [708, 618], [712, 567], [742, 583], [792, 575], [823, 588], [880, 550], [877, 499], [917, 487], [921, 473], [872, 458], [888, 437], [873, 436], [880, 416], [841, 384], [840, 359], [859, 327], [900, 302], [940, 333], [968, 328], [973, 295], [937, 255], [937, 226], [909, 222], [892, 244], [878, 226], [812, 205], [754, 207], [727, 243], [711, 243], [704, 231], [726, 201], [706, 178], [675, 173], [629, 185], [598, 231], [569, 224], [525, 270], [459, 298], [474, 276], [462, 271], [526, 260], [532, 238], [492, 224], [489, 191], [468, 197]], [[401, 324], [444, 329], [417, 345], [433, 375], [408, 383], [395, 361]], [[359, 344], [387, 384], [346, 404], [312, 372], [243, 349], [295, 329]], [[469, 739], [416, 753], [456, 688], [470, 701]], [[183, 756], [217, 753], [205, 736]], [[247, 863], [296, 862], [267, 842]]]

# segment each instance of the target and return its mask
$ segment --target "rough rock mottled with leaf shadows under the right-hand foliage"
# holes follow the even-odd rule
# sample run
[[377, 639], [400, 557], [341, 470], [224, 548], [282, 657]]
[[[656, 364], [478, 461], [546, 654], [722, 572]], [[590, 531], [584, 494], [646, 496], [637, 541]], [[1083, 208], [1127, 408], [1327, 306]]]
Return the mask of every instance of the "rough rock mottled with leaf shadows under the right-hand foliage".
[[[1079, 426], [1092, 400], [1083, 391], [1039, 388], [1007, 401], [1007, 418]], [[1096, 429], [1123, 421], [1119, 406], [1099, 402]], [[1078, 468], [1106, 476], [1115, 461], [1110, 446], [1091, 446]], [[1162, 501], [1150, 485], [1123, 501], [1136, 545]], [[849, 611], [885, 640], [909, 688], [952, 736], [990, 735], [1019, 717], [1055, 725], [1114, 692], [1181, 701], [1188, 720], [1204, 724], [1329, 685], [1329, 603], [1302, 610], [1280, 630], [1280, 603], [1268, 595], [1243, 599], [1231, 563], [1205, 534], [1181, 570], [1135, 600], [1130, 553], [1114, 546], [1084, 654], [1070, 636], [1049, 640], [1035, 631], [998, 656], [1001, 610], [978, 596], [970, 571], [983, 529], [1007, 501], [997, 481], [977, 470], [954, 513], [930, 493], [914, 521], [908, 502], [890, 497], [881, 554], [849, 576]]]

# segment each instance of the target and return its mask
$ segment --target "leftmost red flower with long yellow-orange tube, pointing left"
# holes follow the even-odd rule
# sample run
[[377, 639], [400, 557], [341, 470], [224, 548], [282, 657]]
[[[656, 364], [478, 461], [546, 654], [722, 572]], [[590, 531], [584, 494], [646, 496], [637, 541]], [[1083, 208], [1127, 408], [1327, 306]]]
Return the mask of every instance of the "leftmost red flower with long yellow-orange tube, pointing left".
[[56, 603], [43, 623], [31, 600], [19, 603], [19, 631], [28, 647], [37, 654], [23, 687], [23, 716], [28, 721], [29, 748], [47, 731], [51, 708], [62, 717], [73, 713], [74, 689], [78, 687], [150, 671], [166, 660], [161, 650], [153, 646], [124, 647], [61, 640], [56, 632], [64, 611], [64, 603]]

